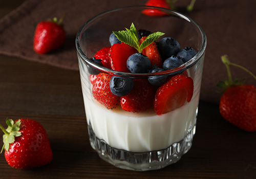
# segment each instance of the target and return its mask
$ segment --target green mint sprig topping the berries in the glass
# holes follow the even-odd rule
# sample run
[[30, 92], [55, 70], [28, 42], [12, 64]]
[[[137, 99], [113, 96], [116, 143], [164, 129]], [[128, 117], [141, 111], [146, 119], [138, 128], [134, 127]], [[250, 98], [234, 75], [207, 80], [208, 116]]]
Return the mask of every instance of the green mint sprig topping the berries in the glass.
[[113, 33], [117, 36], [117, 38], [120, 41], [127, 43], [130, 46], [134, 47], [135, 49], [138, 50], [139, 53], [141, 53], [145, 47], [147, 47], [152, 42], [157, 40], [159, 37], [164, 35], [164, 33], [162, 33], [162, 32], [152, 33], [152, 34], [148, 35], [147, 38], [140, 44], [138, 33], [137, 33], [137, 30], [136, 30], [134, 24], [132, 23], [130, 29], [127, 29], [127, 28], [125, 28], [125, 29], [126, 29], [126, 31], [115, 31]]

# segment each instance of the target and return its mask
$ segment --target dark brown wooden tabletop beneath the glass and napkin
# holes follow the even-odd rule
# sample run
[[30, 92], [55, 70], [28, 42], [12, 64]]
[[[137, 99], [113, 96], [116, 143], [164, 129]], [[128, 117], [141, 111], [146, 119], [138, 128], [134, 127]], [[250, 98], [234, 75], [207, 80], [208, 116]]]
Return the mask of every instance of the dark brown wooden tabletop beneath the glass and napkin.
[[[1, 1], [0, 18], [22, 2]], [[226, 122], [217, 104], [200, 101], [193, 146], [178, 163], [135, 172], [104, 162], [91, 148], [77, 71], [0, 55], [0, 101], [2, 124], [7, 117], [39, 121], [47, 130], [54, 154], [46, 166], [18, 170], [7, 164], [2, 153], [1, 179], [256, 178], [256, 133]]]

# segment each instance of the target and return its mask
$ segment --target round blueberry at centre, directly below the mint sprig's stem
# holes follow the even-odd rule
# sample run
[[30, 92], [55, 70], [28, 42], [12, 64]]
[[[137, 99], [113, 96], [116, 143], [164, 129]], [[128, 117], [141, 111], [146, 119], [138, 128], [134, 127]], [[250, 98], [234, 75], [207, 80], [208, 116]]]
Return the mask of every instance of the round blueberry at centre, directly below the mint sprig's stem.
[[151, 69], [151, 61], [147, 56], [135, 53], [127, 59], [126, 66], [132, 73], [147, 73]]

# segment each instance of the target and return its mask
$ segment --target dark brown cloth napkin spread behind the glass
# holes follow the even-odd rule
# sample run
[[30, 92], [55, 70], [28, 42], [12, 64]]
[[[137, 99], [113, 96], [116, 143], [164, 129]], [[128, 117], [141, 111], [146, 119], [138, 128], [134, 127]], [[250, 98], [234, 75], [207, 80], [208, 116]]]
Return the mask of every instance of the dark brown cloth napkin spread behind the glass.
[[[20, 57], [57, 66], [78, 70], [75, 36], [79, 28], [91, 17], [113, 8], [144, 5], [146, 0], [27, 0], [16, 10], [0, 20], [0, 54]], [[204, 71], [200, 99], [219, 103], [219, 80], [227, 77], [221, 56], [227, 54], [230, 61], [256, 72], [256, 1], [254, 0], [197, 0], [194, 10], [187, 12], [189, 0], [179, 0], [177, 10], [196, 20], [207, 36]], [[65, 44], [46, 55], [33, 51], [33, 35], [41, 20], [61, 17], [67, 13], [64, 27], [67, 32]], [[247, 78], [247, 83], [256, 85], [248, 73], [231, 67], [233, 76]]]

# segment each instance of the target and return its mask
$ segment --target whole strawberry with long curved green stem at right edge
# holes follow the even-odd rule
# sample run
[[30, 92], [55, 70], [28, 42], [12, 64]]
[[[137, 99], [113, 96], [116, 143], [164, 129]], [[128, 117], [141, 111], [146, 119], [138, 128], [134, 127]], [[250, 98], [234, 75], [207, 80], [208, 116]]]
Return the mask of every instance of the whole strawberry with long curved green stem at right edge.
[[243, 80], [232, 81], [229, 65], [247, 71], [255, 79], [256, 76], [243, 66], [231, 63], [226, 55], [221, 58], [226, 65], [228, 79], [218, 83], [219, 87], [224, 88], [219, 104], [220, 114], [225, 120], [243, 130], [256, 131], [256, 87], [244, 84]]

